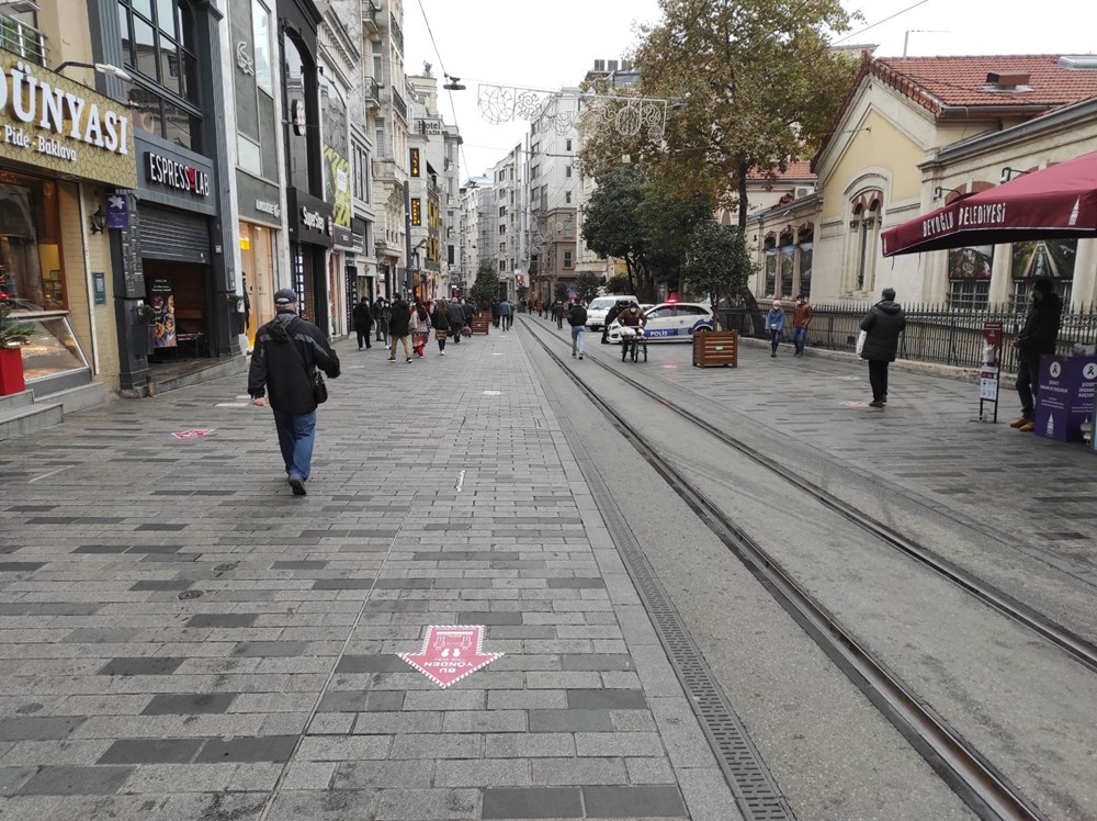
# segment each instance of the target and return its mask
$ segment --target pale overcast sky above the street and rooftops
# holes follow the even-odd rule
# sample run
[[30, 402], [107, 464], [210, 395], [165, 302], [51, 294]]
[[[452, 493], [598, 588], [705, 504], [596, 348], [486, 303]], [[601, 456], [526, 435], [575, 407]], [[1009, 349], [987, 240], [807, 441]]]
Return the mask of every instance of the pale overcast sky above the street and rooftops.
[[[904, 37], [912, 57], [1094, 50], [1092, 0], [1039, 0], [1028, 9], [1003, 0], [846, 0], [846, 7], [859, 9], [864, 21], [844, 42], [877, 44], [880, 57], [902, 55]], [[479, 83], [546, 90], [575, 86], [596, 59], [620, 59], [633, 48], [636, 23], [658, 19], [658, 0], [554, 0], [546, 5], [404, 0], [406, 67], [418, 74], [427, 61], [441, 77], [440, 55], [445, 71], [467, 86], [452, 92], [454, 106], [444, 92], [439, 100], [443, 119], [456, 122], [464, 137], [461, 176], [466, 179], [494, 166], [528, 127], [485, 122], [476, 105]]]

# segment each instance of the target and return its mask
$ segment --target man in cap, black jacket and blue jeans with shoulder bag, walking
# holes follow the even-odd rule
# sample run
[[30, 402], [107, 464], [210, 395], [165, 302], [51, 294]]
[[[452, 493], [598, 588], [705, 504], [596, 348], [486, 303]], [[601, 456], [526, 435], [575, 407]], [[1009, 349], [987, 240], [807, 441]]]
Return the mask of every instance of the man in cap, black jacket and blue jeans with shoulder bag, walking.
[[285, 288], [274, 294], [276, 314], [256, 334], [248, 373], [251, 404], [265, 407], [268, 394], [274, 428], [294, 496], [305, 495], [316, 439], [313, 372], [339, 376], [339, 357], [324, 333], [297, 316], [297, 295]]

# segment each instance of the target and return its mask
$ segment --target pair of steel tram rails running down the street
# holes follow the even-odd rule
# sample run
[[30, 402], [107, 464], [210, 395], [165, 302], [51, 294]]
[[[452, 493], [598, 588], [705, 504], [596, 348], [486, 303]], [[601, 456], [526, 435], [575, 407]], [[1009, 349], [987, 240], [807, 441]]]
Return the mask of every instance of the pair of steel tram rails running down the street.
[[[656, 473], [698, 515], [700, 520], [747, 567], [767, 592], [789, 612], [828, 657], [902, 733], [950, 788], [984, 819], [1044, 819], [984, 755], [931, 709], [898, 675], [877, 657], [819, 600], [812, 596], [773, 555], [736, 525], [695, 483], [665, 459], [627, 419], [587, 382], [568, 368], [544, 340], [538, 326], [525, 324], [532, 338], [550, 359], [621, 432]], [[555, 335], [552, 339], [562, 341]], [[866, 516], [810, 480], [772, 464], [746, 442], [717, 429], [697, 414], [672, 403], [617, 369], [587, 358], [619, 380], [641, 391], [665, 408], [714, 437], [753, 462], [766, 468], [810, 497], [874, 538], [948, 580], [977, 600], [1053, 643], [1090, 672], [1097, 672], [1097, 649], [1082, 637], [957, 567], [894, 529]]]

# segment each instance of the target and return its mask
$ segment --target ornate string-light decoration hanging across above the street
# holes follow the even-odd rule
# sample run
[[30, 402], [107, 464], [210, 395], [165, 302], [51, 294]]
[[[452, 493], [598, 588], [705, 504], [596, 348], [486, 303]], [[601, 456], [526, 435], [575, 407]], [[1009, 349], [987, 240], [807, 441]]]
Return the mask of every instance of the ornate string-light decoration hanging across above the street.
[[654, 97], [618, 94], [567, 94], [578, 101], [575, 111], [561, 105], [561, 91], [541, 91], [514, 86], [480, 83], [477, 106], [480, 116], [493, 125], [524, 120], [552, 127], [566, 134], [579, 119], [578, 109], [612, 125], [623, 137], [633, 137], [647, 130], [651, 139], [663, 139], [667, 123], [667, 101]]

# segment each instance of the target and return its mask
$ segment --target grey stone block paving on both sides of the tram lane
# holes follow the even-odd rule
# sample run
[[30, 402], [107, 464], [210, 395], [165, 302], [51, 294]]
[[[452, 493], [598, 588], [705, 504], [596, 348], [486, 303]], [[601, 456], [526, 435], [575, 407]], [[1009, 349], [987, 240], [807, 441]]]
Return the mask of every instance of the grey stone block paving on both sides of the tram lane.
[[[7, 442], [4, 813], [736, 818], [523, 323], [548, 325], [410, 364], [340, 344], [306, 498], [239, 379]], [[867, 400], [861, 363], [688, 359], [653, 346], [633, 372], [723, 408], [774, 459], [841, 465], [851, 493], [903, 487], [1079, 588], [1097, 577], [1097, 462], [968, 421], [974, 386], [896, 372], [878, 413], [842, 404]], [[212, 432], [171, 436], [193, 429]], [[441, 689], [396, 654], [446, 625], [485, 626], [504, 655]]]

